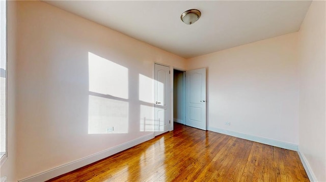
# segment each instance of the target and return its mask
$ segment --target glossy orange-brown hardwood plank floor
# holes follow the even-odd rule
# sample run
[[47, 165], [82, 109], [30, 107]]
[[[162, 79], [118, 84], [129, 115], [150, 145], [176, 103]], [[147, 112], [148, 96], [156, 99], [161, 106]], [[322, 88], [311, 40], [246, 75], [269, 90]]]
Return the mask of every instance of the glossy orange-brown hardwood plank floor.
[[295, 151], [181, 124], [49, 181], [309, 181]]

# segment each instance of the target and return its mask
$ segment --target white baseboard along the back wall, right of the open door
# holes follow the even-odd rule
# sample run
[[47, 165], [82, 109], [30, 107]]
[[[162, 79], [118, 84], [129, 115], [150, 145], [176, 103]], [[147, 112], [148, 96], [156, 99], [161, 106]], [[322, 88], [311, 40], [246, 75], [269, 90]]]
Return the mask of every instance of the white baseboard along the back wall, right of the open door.
[[286, 142], [283, 142], [283, 141], [273, 140], [273, 139], [269, 139], [269, 138], [263, 138], [263, 137], [259, 137], [259, 136], [254, 136], [254, 135], [249, 135], [249, 134], [244, 134], [244, 133], [238, 133], [238, 132], [235, 132], [235, 131], [225, 130], [225, 129], [221, 129], [221, 128], [207, 127], [207, 130], [222, 133], [222, 134], [226, 134], [226, 135], [230, 135], [230, 136], [235, 136], [235, 137], [238, 137], [238, 138], [247, 139], [247, 140], [250, 140], [250, 141], [255, 141], [255, 142], [258, 142], [258, 143], [268, 144], [268, 145], [271, 145], [271, 146], [274, 146], [274, 147], [279, 147], [279, 148], [282, 148], [282, 149], [297, 151], [297, 145], [292, 144], [292, 143], [286, 143]]

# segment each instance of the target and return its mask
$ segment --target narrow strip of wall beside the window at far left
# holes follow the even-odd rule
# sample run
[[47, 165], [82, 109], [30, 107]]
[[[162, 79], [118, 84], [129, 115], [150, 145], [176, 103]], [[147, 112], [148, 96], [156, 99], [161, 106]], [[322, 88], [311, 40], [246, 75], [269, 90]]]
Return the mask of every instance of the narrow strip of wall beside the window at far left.
[[6, 176], [7, 181], [17, 181], [16, 178], [16, 119], [15, 119], [15, 64], [16, 64], [16, 2], [15, 1], [8, 1], [7, 2], [7, 9], [8, 11], [8, 19], [7, 19], [7, 33], [8, 33], [8, 69], [7, 69], [7, 82], [8, 82], [8, 94], [7, 94], [7, 118], [8, 118], [8, 159], [7, 161], [1, 166], [0, 175], [1, 177]]

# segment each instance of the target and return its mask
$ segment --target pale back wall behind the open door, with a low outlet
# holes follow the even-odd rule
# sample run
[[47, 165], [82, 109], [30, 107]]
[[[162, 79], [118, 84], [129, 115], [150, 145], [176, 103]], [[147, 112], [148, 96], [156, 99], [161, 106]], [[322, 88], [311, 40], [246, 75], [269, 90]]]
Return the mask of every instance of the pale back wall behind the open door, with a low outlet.
[[296, 51], [295, 32], [189, 59], [207, 68], [208, 128], [298, 144]]

